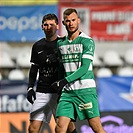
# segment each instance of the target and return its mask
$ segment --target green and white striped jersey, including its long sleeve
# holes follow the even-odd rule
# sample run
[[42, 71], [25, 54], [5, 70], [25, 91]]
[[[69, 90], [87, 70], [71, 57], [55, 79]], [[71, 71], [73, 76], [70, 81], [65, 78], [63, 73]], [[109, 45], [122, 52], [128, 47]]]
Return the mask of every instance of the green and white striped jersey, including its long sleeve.
[[72, 95], [90, 93], [96, 87], [93, 74], [93, 55], [95, 44], [92, 38], [81, 32], [73, 41], [67, 37], [58, 41], [60, 59], [69, 82], [63, 92]]

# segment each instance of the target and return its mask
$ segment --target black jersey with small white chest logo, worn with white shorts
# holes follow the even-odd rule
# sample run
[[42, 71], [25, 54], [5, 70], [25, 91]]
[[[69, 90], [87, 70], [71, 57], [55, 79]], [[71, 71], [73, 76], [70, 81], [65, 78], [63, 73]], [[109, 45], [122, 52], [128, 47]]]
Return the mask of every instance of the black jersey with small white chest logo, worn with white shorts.
[[[30, 62], [38, 68], [39, 78], [37, 81], [37, 92], [55, 93], [50, 90], [50, 85], [58, 80], [58, 60], [50, 62], [47, 58], [50, 54], [58, 55], [57, 53], [57, 38], [54, 41], [47, 41], [45, 38], [37, 41], [32, 47]], [[30, 77], [32, 78], [32, 77]], [[29, 83], [31, 87], [35, 83]]]

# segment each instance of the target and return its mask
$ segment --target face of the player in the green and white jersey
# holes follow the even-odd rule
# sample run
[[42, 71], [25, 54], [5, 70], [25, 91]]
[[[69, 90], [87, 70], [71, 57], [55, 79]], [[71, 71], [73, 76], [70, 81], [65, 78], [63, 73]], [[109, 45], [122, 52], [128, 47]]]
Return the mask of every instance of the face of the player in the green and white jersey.
[[63, 24], [66, 27], [68, 33], [74, 33], [78, 30], [80, 19], [78, 15], [73, 12], [70, 15], [66, 15]]

